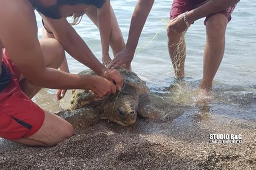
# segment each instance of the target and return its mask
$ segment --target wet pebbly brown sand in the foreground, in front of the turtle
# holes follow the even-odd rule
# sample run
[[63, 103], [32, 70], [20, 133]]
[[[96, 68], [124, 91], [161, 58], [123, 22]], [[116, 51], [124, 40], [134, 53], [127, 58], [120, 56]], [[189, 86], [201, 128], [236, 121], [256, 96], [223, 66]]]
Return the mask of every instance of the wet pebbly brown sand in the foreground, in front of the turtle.
[[[173, 105], [161, 120], [130, 127], [100, 121], [51, 148], [0, 140], [1, 170], [254, 170], [256, 106]], [[209, 134], [242, 134], [242, 144], [210, 144]]]

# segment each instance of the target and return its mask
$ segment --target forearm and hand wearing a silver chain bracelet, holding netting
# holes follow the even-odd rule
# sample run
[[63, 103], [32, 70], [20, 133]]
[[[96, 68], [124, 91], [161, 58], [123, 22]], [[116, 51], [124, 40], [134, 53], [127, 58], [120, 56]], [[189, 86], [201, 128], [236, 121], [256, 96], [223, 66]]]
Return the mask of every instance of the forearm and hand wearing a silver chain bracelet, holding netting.
[[[198, 8], [189, 11], [187, 14], [187, 21], [189, 24], [192, 24], [194, 21], [199, 20], [200, 18], [226, 10], [239, 1], [240, 0], [208, 0]], [[184, 14], [180, 14], [170, 21], [169, 28], [176, 32], [184, 32], [187, 28], [184, 22]]]

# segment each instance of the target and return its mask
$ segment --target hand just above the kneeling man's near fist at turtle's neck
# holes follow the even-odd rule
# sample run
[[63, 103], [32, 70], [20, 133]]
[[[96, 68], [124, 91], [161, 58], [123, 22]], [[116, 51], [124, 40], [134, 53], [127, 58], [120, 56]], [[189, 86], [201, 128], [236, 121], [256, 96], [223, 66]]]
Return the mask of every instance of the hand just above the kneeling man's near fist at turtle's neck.
[[124, 84], [122, 75], [116, 69], [106, 69], [103, 71], [102, 77], [108, 79], [114, 84], [115, 89], [112, 88], [112, 93], [116, 93], [116, 90], [120, 91]]

